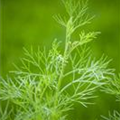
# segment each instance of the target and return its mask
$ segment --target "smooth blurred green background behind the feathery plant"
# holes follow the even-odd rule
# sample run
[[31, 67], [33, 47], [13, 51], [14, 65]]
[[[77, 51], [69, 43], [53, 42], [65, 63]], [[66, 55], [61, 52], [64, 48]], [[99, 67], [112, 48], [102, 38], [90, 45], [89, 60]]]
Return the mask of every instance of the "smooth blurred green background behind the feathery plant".
[[[119, 12], [120, 0], [89, 0], [88, 13], [96, 17], [91, 24], [81, 28], [101, 31], [97, 40], [90, 44], [91, 49], [97, 58], [102, 54], [112, 58], [110, 67], [115, 68], [116, 73], [120, 72]], [[58, 13], [65, 14], [61, 0], [0, 0], [0, 75], [14, 70], [12, 63], [20, 64], [23, 47], [46, 46], [49, 49], [55, 38], [64, 42], [65, 29], [53, 19]], [[108, 111], [120, 110], [120, 104], [113, 96], [100, 92], [99, 96], [96, 105], [88, 108], [76, 104], [75, 110], [70, 112], [71, 119], [95, 120], [101, 114], [107, 115]]]

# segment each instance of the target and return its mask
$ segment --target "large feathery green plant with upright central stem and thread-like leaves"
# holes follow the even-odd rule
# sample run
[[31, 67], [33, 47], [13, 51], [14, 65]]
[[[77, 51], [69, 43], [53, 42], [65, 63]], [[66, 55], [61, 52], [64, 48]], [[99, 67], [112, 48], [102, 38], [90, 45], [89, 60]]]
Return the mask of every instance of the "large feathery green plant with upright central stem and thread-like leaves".
[[68, 18], [60, 15], [54, 18], [66, 29], [64, 51], [59, 50], [58, 40], [53, 42], [50, 51], [41, 51], [39, 47], [37, 52], [24, 49], [25, 58], [21, 59], [21, 66], [15, 65], [14, 78], [1, 78], [0, 100], [9, 101], [13, 108], [10, 113], [6, 109], [1, 119], [67, 120], [67, 111], [76, 102], [85, 107], [92, 104], [94, 92], [113, 75], [107, 57], [103, 55], [96, 60], [86, 45], [100, 32], [81, 31], [79, 39], [73, 40], [76, 29], [89, 24], [93, 18], [86, 13], [87, 1], [62, 2]]

